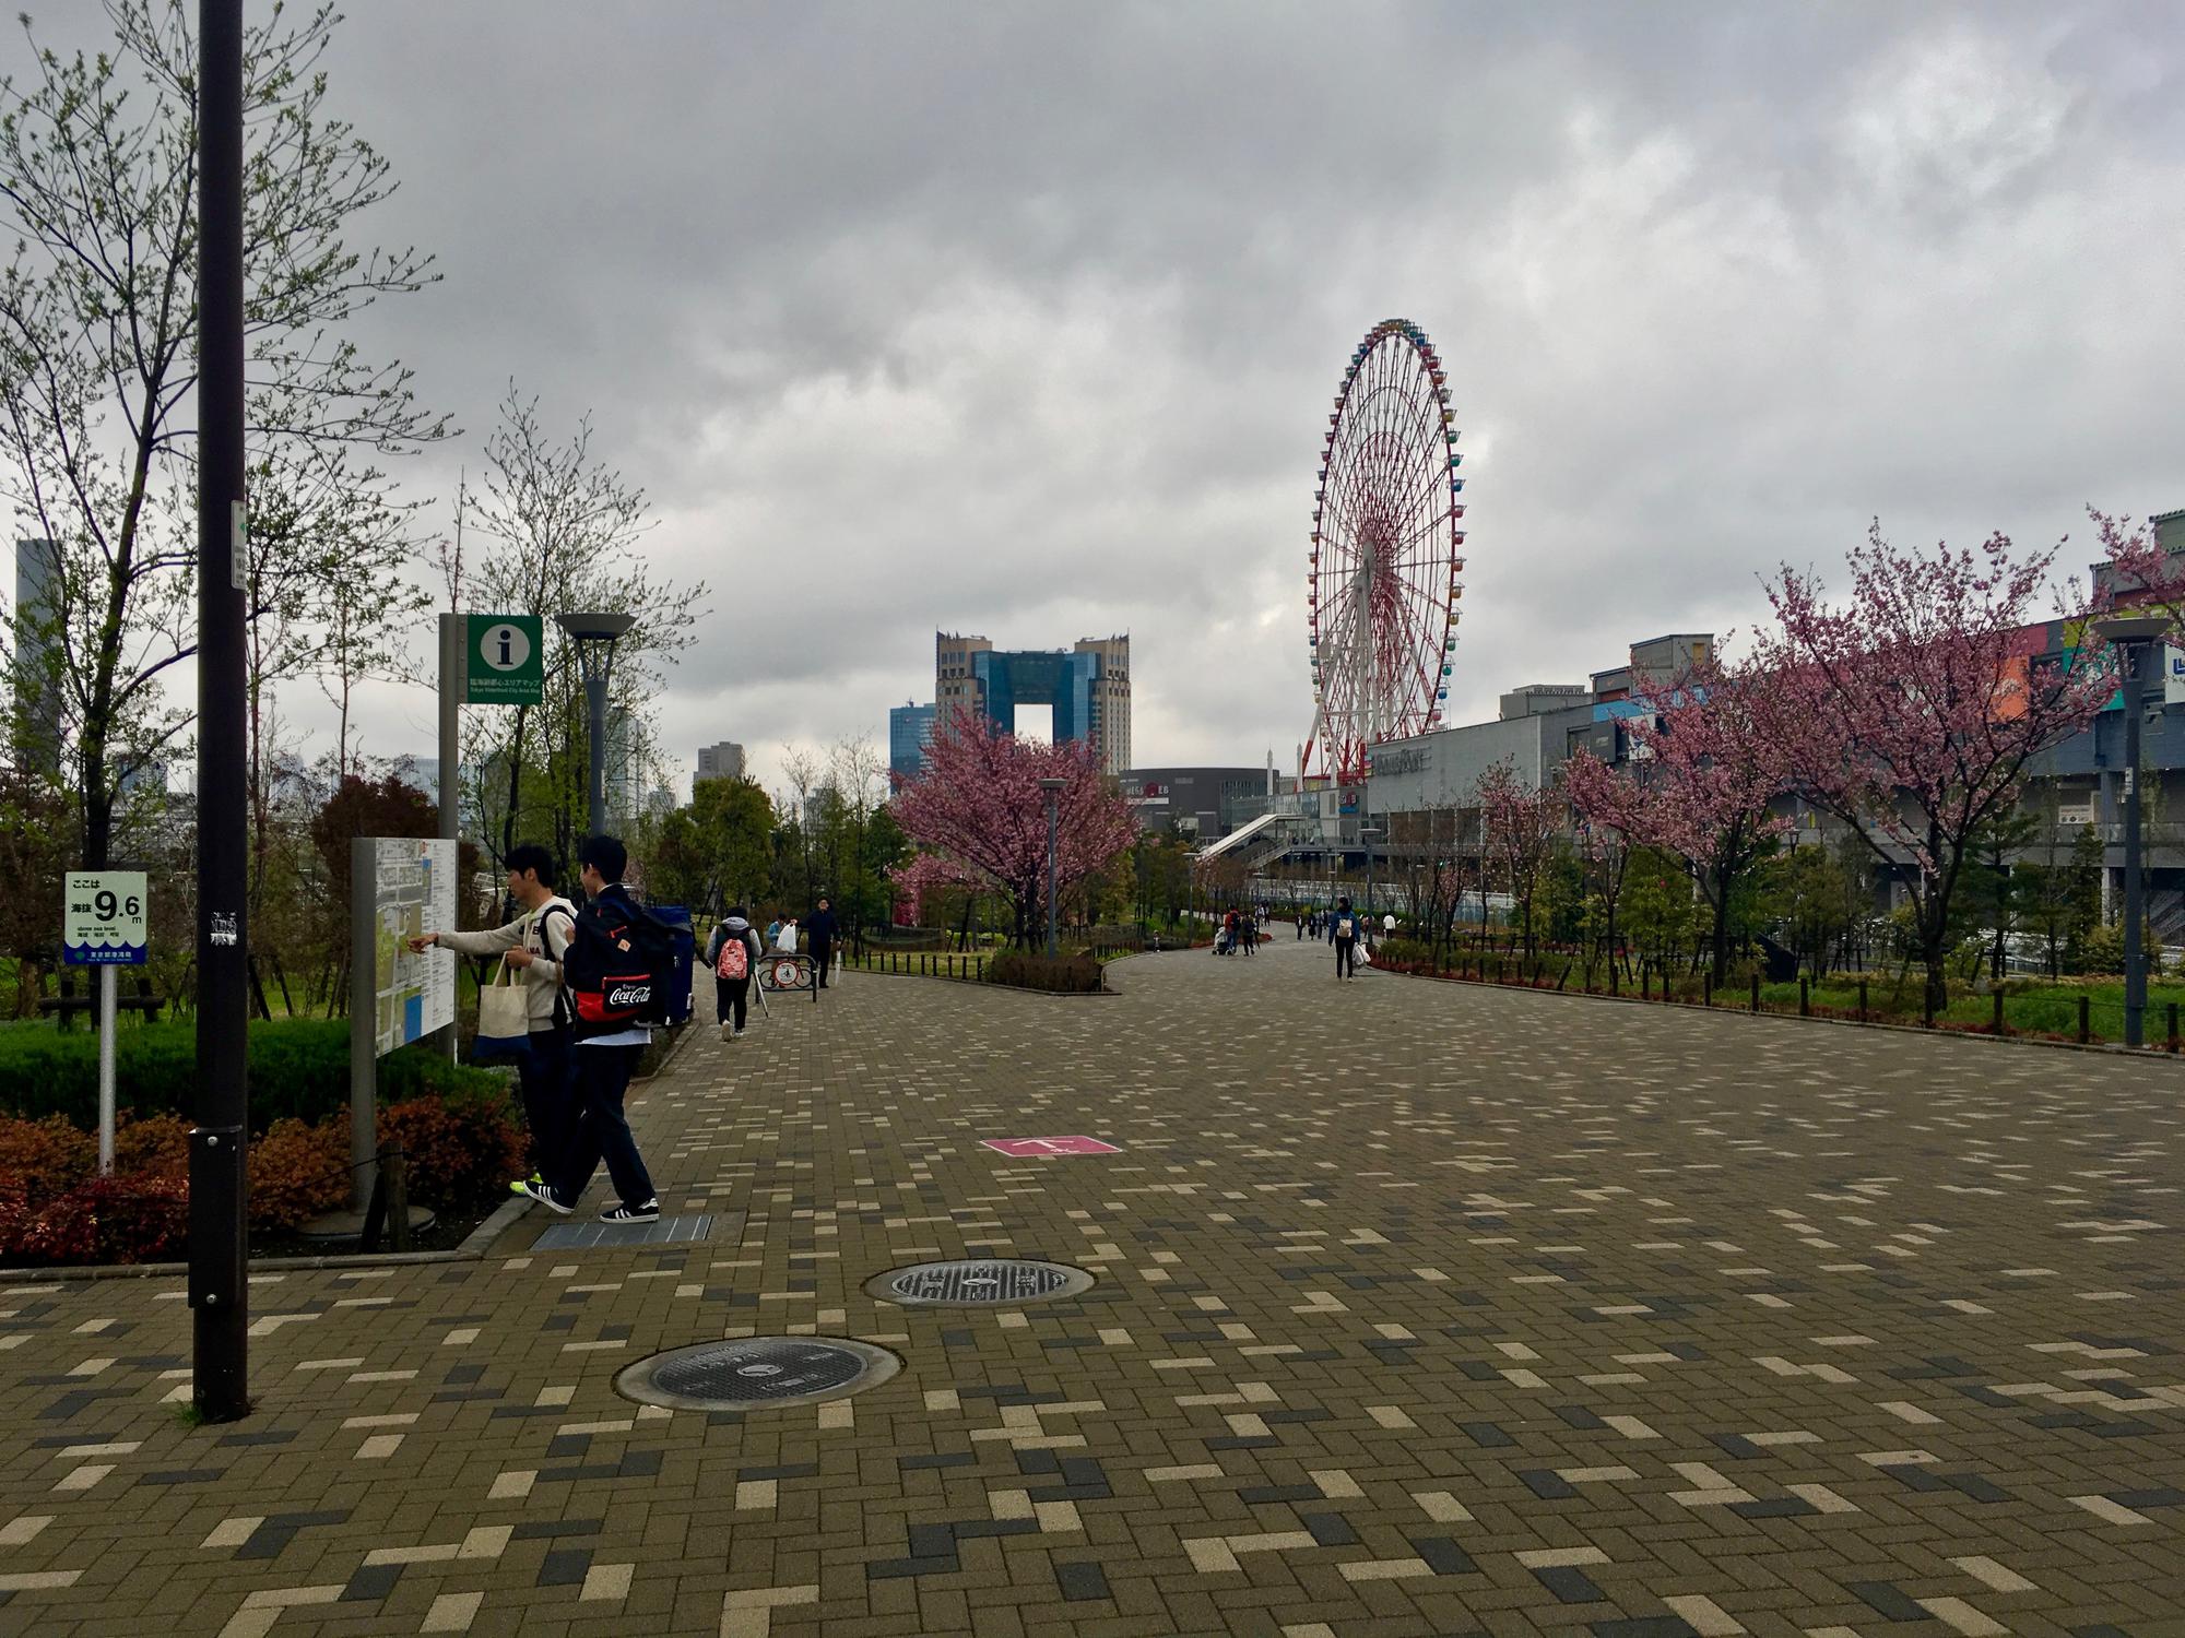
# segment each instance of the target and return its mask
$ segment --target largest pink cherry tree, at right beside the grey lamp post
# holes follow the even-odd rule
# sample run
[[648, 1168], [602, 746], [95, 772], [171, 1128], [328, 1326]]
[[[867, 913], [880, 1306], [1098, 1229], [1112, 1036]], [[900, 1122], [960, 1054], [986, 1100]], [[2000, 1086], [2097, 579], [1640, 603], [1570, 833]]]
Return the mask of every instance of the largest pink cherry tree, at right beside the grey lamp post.
[[[2117, 688], [2106, 651], [2043, 660], [2032, 605], [2056, 553], [2019, 553], [2006, 535], [1908, 553], [1875, 524], [1851, 553], [1846, 603], [1827, 603], [1820, 581], [1792, 568], [1768, 587], [1776, 631], [1755, 662], [1774, 675], [1785, 767], [1886, 865], [1912, 865], [1916, 954], [1936, 1011], [1949, 1002], [1951, 904], [1982, 832], [2017, 808], [2028, 764], [2084, 732]], [[2067, 620], [2084, 614], [2065, 609]]]

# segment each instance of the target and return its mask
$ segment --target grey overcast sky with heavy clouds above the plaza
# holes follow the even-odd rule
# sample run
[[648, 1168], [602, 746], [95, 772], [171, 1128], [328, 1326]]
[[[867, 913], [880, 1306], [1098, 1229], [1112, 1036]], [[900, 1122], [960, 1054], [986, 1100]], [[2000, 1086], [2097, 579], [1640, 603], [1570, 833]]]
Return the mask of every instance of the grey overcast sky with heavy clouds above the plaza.
[[[369, 334], [470, 432], [413, 489], [513, 376], [712, 585], [686, 784], [885, 738], [935, 627], [1127, 631], [1141, 764], [1291, 767], [1320, 432], [1396, 314], [1468, 456], [1449, 721], [1877, 513], [2076, 563], [2084, 502], [2185, 507], [2181, 57], [2170, 0], [369, 0], [330, 100], [402, 179], [358, 234], [446, 273]], [[430, 751], [417, 690], [365, 721]]]

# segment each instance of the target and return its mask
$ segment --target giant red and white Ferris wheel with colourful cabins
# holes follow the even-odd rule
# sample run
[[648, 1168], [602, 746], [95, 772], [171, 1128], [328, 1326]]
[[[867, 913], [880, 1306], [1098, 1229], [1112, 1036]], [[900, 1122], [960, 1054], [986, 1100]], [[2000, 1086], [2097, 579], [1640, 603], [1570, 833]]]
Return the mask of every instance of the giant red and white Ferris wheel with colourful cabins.
[[1320, 448], [1307, 559], [1313, 734], [1298, 773], [1366, 778], [1381, 740], [1442, 721], [1464, 596], [1464, 478], [1427, 332], [1383, 319], [1350, 354]]

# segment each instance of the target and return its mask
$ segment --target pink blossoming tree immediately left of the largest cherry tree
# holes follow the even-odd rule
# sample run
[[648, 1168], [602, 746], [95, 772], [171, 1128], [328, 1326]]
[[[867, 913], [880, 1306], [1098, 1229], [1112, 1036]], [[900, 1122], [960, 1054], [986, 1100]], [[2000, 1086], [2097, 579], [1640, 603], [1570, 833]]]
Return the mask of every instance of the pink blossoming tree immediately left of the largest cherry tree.
[[1580, 751], [1562, 771], [1591, 828], [1685, 860], [1715, 913], [1717, 985], [1731, 963], [1731, 895], [1783, 828], [1768, 810], [1790, 784], [1772, 684], [1759, 668], [1702, 660], [1650, 701], [1652, 716], [1630, 721], [1628, 767]]

